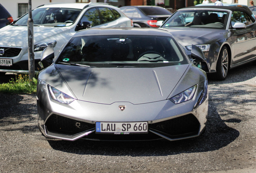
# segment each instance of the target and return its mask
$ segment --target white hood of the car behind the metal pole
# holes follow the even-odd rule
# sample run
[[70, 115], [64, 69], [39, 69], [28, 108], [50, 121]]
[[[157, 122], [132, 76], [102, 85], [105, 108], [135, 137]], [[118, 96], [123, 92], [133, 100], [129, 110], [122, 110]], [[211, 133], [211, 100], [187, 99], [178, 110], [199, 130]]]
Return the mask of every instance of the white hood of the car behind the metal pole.
[[[63, 34], [69, 27], [47, 27], [34, 26], [33, 37], [34, 44], [45, 41], [47, 38], [55, 37], [56, 34]], [[0, 45], [2, 46], [17, 46], [27, 50], [28, 47], [28, 31], [27, 26], [12, 26], [8, 25], [0, 29]], [[48, 40], [48, 39], [47, 39]]]

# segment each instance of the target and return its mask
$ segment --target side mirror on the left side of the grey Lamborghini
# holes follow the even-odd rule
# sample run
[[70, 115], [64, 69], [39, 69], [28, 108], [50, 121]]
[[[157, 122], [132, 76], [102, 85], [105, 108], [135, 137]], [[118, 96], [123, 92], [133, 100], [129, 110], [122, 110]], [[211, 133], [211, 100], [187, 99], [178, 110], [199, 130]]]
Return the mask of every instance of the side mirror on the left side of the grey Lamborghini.
[[54, 59], [54, 48], [53, 45], [47, 46], [41, 53], [41, 62], [43, 67], [50, 66]]

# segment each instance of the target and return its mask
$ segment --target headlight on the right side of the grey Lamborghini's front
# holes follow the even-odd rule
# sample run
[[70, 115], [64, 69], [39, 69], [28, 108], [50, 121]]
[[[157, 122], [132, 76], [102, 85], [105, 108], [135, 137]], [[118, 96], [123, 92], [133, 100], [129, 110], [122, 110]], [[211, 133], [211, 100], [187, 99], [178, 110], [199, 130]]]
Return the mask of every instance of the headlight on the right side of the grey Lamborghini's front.
[[189, 101], [194, 97], [194, 94], [196, 92], [196, 87], [197, 87], [197, 85], [194, 85], [193, 87], [187, 89], [186, 91], [183, 91], [182, 93], [175, 95], [174, 97], [171, 97], [171, 99], [169, 99], [169, 100], [175, 104]]

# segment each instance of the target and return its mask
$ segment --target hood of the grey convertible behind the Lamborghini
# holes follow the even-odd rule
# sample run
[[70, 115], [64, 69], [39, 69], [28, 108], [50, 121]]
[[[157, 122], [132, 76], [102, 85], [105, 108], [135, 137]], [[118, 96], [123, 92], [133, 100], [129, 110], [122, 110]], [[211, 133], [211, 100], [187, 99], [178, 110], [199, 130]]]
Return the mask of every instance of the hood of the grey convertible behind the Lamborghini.
[[169, 31], [182, 46], [211, 43], [212, 40], [218, 39], [223, 34], [227, 34], [226, 30], [211, 28], [173, 27], [163, 29]]

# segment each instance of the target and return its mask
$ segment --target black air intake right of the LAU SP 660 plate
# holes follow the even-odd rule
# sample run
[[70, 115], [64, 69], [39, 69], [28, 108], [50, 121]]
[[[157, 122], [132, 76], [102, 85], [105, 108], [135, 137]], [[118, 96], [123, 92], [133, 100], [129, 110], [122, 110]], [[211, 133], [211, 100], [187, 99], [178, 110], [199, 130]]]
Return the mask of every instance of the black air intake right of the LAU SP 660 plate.
[[194, 115], [188, 114], [167, 121], [149, 124], [149, 128], [165, 133], [170, 138], [175, 139], [197, 135], [200, 123]]

